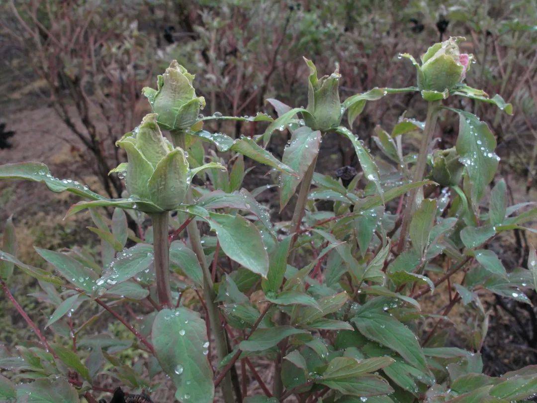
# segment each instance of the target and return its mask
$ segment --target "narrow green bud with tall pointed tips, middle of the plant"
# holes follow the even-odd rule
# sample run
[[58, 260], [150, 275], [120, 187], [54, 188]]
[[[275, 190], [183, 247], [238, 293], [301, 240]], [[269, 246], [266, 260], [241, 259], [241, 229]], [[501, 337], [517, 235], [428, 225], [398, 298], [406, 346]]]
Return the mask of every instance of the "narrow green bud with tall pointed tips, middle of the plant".
[[339, 66], [329, 76], [317, 78], [317, 69], [311, 60], [306, 60], [310, 75], [308, 81], [309, 113], [304, 113], [304, 122], [313, 130], [327, 131], [339, 126], [343, 116], [339, 101]]

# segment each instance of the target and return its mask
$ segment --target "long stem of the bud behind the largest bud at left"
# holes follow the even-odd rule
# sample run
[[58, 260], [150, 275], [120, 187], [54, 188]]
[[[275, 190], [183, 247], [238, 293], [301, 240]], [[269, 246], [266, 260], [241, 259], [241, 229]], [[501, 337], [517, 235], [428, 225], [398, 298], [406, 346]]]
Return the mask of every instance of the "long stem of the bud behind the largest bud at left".
[[[171, 132], [173, 145], [175, 147], [186, 148], [185, 145], [185, 133], [181, 131]], [[192, 197], [192, 189], [188, 188], [186, 193], [185, 203], [192, 204], [194, 198]], [[186, 227], [186, 232], [188, 234], [188, 239], [192, 246], [192, 250], [198, 257], [198, 261], [201, 265], [203, 271], [204, 283], [203, 283], [203, 293], [205, 298], [205, 304], [207, 305], [207, 314], [209, 315], [209, 325], [211, 326], [211, 334], [214, 336], [214, 341], [216, 343], [216, 354], [219, 361], [222, 361], [224, 357], [228, 355], [228, 344], [226, 341], [226, 334], [221, 326], [220, 312], [218, 305], [215, 303], [216, 294], [213, 289], [213, 280], [211, 278], [211, 272], [209, 271], [209, 266], [205, 258], [205, 252], [201, 244], [201, 236], [198, 229], [198, 225], [195, 220], [192, 220]], [[226, 377], [222, 380], [222, 391], [224, 394], [224, 401], [234, 402], [235, 398], [233, 395], [233, 385], [231, 384], [231, 377], [229, 373], [226, 374]]]

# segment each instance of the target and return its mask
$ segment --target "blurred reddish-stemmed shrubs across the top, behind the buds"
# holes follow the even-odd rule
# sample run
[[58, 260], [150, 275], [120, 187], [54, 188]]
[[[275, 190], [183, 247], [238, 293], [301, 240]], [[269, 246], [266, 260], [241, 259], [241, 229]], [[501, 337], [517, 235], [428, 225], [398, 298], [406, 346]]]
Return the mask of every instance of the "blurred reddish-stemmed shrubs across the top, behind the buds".
[[[302, 56], [320, 71], [339, 63], [346, 97], [375, 86], [412, 84], [413, 67], [397, 59], [400, 52], [417, 56], [434, 41], [462, 35], [464, 50], [476, 57], [468, 84], [491, 96], [500, 93], [516, 111], [511, 117], [476, 105], [475, 112], [497, 134], [504, 166], [531, 186], [537, 156], [536, 7], [531, 0], [4, 2], [1, 60], [14, 75], [3, 75], [3, 104], [30, 92], [44, 95], [81, 140], [81, 154], [97, 157], [95, 172], [114, 195], [121, 184], [107, 173], [121, 156], [111, 144], [147, 111], [140, 88], [153, 84], [150, 77], [171, 59], [195, 72], [195, 86], [207, 98], [205, 114], [253, 115], [267, 109], [269, 97], [306, 103]], [[405, 110], [415, 112], [416, 97], [368, 106], [357, 128], [360, 137]], [[227, 131], [257, 133], [255, 125], [239, 123]], [[452, 122], [446, 122], [444, 132], [451, 131]], [[511, 147], [524, 152], [507, 155]], [[108, 153], [116, 153], [117, 161]], [[342, 151], [343, 165], [351, 155]]]

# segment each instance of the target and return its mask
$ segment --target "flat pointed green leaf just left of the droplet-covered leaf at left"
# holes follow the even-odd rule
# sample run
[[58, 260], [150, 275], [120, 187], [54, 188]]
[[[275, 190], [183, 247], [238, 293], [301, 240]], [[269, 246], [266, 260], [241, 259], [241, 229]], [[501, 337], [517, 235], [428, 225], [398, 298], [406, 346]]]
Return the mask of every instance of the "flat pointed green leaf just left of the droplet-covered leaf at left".
[[53, 250], [35, 248], [37, 253], [52, 264], [54, 268], [70, 283], [79, 289], [91, 292], [99, 277], [95, 271], [84, 267], [74, 258]]

